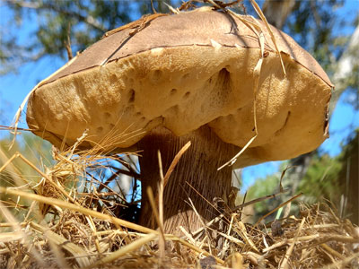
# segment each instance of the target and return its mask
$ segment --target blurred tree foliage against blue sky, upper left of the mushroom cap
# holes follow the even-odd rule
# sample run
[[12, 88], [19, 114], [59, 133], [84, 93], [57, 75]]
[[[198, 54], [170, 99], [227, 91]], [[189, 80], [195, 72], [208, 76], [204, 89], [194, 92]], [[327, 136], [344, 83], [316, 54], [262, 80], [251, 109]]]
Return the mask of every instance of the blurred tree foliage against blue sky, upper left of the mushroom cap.
[[[66, 46], [71, 45], [74, 52], [82, 51], [106, 31], [130, 22], [130, 14], [138, 13], [141, 4], [144, 1], [6, 1], [8, 18], [1, 29], [0, 74], [16, 71], [43, 56], [65, 59]], [[24, 18], [38, 24], [26, 42], [19, 35]]]

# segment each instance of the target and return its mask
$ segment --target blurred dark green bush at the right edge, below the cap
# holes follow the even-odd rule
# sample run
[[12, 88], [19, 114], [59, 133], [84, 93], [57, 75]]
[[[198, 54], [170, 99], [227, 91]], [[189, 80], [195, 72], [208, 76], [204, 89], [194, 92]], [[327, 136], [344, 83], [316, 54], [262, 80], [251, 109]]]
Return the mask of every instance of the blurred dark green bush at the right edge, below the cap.
[[359, 223], [358, 143], [359, 129], [349, 138], [337, 157], [317, 154], [311, 160], [311, 166], [299, 188], [306, 202], [329, 200], [337, 206], [342, 217], [349, 217], [355, 223]]

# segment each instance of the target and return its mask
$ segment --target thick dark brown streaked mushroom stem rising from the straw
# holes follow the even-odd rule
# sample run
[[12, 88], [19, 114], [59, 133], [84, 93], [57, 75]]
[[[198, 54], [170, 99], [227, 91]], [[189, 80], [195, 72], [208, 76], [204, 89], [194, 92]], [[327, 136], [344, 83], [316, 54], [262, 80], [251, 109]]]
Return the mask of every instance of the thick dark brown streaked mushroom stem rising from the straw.
[[[140, 224], [152, 229], [157, 228], [146, 195], [147, 187], [152, 187], [155, 196], [158, 192], [160, 174], [157, 151], [161, 152], [163, 173], [165, 173], [177, 152], [188, 141], [191, 141], [190, 148], [181, 157], [164, 187], [164, 230], [166, 233], [180, 235], [179, 226], [183, 226], [190, 232], [202, 227], [197, 214], [185, 202], [188, 201], [188, 197], [192, 200], [203, 221], [210, 221], [219, 214], [211, 204], [215, 197], [221, 197], [226, 201], [232, 185], [232, 168], [226, 167], [220, 171], [217, 168], [231, 159], [238, 148], [232, 144], [223, 143], [208, 126], [202, 126], [181, 137], [172, 134], [164, 127], [157, 127], [139, 143], [139, 148], [143, 150], [140, 158], [142, 174]], [[189, 185], [195, 188], [200, 195]], [[208, 204], [204, 198], [211, 204]]]

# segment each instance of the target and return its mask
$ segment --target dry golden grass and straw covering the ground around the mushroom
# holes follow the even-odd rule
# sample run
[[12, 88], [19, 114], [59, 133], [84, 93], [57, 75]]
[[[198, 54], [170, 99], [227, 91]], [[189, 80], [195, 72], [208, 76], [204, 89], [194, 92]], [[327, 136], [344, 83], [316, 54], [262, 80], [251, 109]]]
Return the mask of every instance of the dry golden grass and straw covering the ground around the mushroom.
[[[359, 266], [358, 227], [339, 219], [327, 204], [302, 204], [300, 215], [266, 225], [261, 224], [265, 218], [255, 225], [243, 223], [241, 210], [245, 206], [238, 206], [237, 212], [224, 211], [197, 233], [189, 234], [181, 228], [181, 238], [163, 235], [118, 219], [118, 207], [109, 207], [114, 201], [109, 182], [103, 187], [94, 177], [83, 176], [89, 169], [101, 167], [103, 156], [73, 152], [54, 151], [57, 163], [45, 172], [20, 153], [0, 168], [4, 172], [20, 158], [39, 173], [38, 184], [31, 179], [26, 186], [0, 187], [0, 194], [9, 198], [3, 202], [16, 201], [0, 205], [0, 268]], [[74, 184], [76, 178], [83, 178], [83, 182]], [[259, 197], [253, 203], [274, 196]], [[124, 202], [121, 205], [128, 206]], [[159, 244], [163, 237], [164, 250]]]

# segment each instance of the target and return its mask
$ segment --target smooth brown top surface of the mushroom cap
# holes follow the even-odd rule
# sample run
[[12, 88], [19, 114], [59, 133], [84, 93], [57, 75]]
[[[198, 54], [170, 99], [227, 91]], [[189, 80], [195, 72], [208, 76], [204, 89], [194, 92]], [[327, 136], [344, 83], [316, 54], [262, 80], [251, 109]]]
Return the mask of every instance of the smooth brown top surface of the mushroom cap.
[[[206, 10], [206, 9], [205, 9]], [[250, 16], [243, 19], [253, 22]], [[266, 48], [275, 51], [265, 24], [258, 21], [265, 33]], [[283, 31], [271, 27], [279, 51], [293, 57], [295, 61], [308, 68], [312, 73], [332, 85], [328, 75], [317, 61], [302, 49], [291, 37]], [[212, 40], [225, 47], [241, 46], [243, 48], [259, 48], [256, 34], [238, 18], [223, 12], [190, 12], [178, 15], [162, 16], [148, 23], [140, 32], [131, 36], [133, 29], [122, 30], [95, 43], [83, 51], [78, 59], [62, 72], [51, 78], [81, 72], [82, 70], [101, 65], [103, 62], [118, 60], [152, 48], [171, 48], [182, 46], [209, 46]]]

